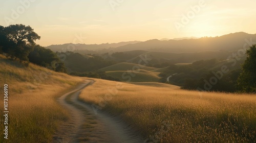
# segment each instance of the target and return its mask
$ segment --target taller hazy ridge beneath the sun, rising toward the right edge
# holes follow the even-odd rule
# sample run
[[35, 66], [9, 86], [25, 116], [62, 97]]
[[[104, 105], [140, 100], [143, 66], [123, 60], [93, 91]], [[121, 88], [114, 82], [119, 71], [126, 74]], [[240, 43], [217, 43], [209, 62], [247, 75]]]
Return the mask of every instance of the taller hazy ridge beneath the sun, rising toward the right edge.
[[[247, 40], [246, 40], [247, 39]], [[256, 42], [256, 34], [244, 32], [231, 33], [220, 37], [204, 37], [199, 39], [183, 39], [160, 41], [148, 40], [136, 44], [123, 45], [114, 49], [114, 52], [125, 52], [132, 50], [146, 50], [157, 52], [199, 52], [199, 51], [233, 51], [242, 49], [245, 43], [247, 47]]]

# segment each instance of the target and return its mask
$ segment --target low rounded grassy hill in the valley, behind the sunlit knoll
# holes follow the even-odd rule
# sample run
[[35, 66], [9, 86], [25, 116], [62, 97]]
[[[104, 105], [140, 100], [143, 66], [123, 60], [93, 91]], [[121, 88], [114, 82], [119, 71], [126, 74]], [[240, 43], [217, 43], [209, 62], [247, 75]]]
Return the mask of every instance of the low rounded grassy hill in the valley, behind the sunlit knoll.
[[134, 64], [134, 63], [118, 63], [118, 64], [114, 64], [111, 66], [107, 66], [104, 68], [101, 68], [99, 70], [103, 70], [103, 71], [126, 71], [126, 70], [133, 70], [133, 68], [138, 69], [137, 67], [140, 67], [140, 69], [145, 69], [145, 70], [155, 70], [157, 68], [155, 67], [148, 67], [148, 66], [143, 66], [143, 65], [139, 65], [139, 64]]

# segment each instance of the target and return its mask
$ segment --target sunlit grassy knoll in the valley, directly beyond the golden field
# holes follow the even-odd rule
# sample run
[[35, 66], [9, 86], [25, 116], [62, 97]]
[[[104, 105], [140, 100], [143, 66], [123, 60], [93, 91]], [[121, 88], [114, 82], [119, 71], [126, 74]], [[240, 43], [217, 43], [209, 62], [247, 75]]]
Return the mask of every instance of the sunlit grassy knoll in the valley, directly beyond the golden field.
[[[160, 77], [158, 76], [159, 74], [159, 72], [148, 71], [144, 69], [133, 71], [106, 71], [106, 75], [111, 76], [113, 78], [118, 78], [123, 82], [158, 82], [160, 79]], [[131, 77], [131, 80], [129, 80], [128, 77]]]

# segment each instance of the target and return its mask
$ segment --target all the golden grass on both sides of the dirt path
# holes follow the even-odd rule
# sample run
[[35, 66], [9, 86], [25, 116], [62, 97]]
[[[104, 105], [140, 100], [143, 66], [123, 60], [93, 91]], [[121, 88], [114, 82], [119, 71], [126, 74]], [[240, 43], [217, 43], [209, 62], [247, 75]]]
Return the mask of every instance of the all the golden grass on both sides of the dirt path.
[[[25, 67], [2, 55], [0, 65], [0, 92], [4, 93], [4, 84], [9, 87], [9, 139], [5, 142], [50, 142], [57, 126], [70, 117], [56, 98], [83, 79], [34, 64]], [[145, 141], [256, 140], [255, 95], [187, 91], [154, 82], [92, 80], [95, 83], [82, 91], [80, 100], [121, 116], [147, 137]], [[4, 129], [2, 122], [0, 128]], [[2, 141], [3, 130], [0, 133]]]

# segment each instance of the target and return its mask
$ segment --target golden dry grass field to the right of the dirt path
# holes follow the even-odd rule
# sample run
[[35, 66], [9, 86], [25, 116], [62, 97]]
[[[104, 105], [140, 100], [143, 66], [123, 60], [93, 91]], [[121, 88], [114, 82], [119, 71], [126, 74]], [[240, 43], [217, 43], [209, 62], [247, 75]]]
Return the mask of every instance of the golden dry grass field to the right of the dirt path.
[[256, 96], [105, 80], [80, 99], [120, 115], [153, 142], [254, 142]]

